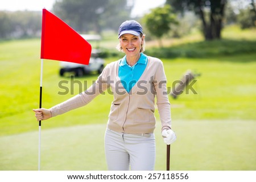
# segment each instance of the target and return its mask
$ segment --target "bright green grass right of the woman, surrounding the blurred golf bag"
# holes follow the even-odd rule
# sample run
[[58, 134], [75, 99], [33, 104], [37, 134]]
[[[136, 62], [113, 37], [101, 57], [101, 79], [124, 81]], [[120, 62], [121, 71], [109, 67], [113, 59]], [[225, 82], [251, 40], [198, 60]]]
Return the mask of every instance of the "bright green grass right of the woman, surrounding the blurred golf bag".
[[208, 60], [177, 59], [166, 64], [170, 83], [180, 79], [181, 70], [188, 69], [200, 73], [193, 88], [197, 94], [189, 91], [178, 99], [171, 99], [176, 118], [192, 119], [221, 119], [221, 120], [255, 120], [255, 83], [254, 70], [256, 62], [240, 62], [239, 60], [253, 61], [255, 55], [245, 55], [229, 58], [213, 58]]

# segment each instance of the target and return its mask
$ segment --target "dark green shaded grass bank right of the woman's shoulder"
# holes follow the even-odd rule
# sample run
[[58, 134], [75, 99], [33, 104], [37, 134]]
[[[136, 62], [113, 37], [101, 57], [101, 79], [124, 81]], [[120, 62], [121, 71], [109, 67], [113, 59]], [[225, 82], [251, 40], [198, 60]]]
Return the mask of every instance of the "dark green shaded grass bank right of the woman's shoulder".
[[[256, 41], [248, 40], [212, 40], [197, 43], [181, 44], [164, 48], [150, 48], [145, 51], [148, 56], [159, 58], [211, 58], [234, 56], [239, 54], [255, 54]], [[256, 59], [235, 59], [230, 61], [252, 62]]]

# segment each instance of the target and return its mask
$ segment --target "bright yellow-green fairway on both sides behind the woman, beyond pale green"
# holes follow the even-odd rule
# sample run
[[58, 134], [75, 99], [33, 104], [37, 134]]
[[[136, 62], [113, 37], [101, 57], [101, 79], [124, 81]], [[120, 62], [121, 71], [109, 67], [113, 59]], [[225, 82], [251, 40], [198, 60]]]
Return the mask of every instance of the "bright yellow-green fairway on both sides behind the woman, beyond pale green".
[[[208, 58], [207, 60], [176, 58], [163, 60], [168, 78], [168, 86], [180, 79], [188, 70], [201, 73], [193, 85], [197, 94], [191, 91], [174, 100], [172, 104], [172, 118], [177, 119], [212, 119], [212, 120], [255, 120], [255, 77], [256, 62], [240, 62], [239, 60], [253, 60], [255, 54], [223, 58]], [[24, 58], [26, 59], [26, 58]], [[40, 60], [31, 59], [30, 63], [13, 60], [13, 64], [2, 61], [5, 69], [1, 67], [1, 122], [0, 135], [28, 132], [36, 129], [36, 121], [31, 111], [38, 108], [39, 103], [39, 76]], [[15, 71], [15, 64], [17, 67]], [[14, 65], [14, 66], [13, 66]], [[34, 65], [34, 66], [32, 66]], [[35, 68], [32, 68], [35, 67]], [[58, 76], [59, 62], [44, 61], [43, 77], [43, 107], [49, 108], [60, 103], [72, 95], [59, 95], [62, 92], [58, 84], [61, 80], [69, 81], [67, 86], [72, 87], [69, 78]], [[7, 71], [10, 70], [10, 71]], [[10, 75], [11, 74], [11, 75]], [[9, 78], [7, 78], [9, 77]], [[84, 80], [89, 86], [97, 75], [77, 78], [84, 87]], [[79, 94], [79, 85], [74, 84], [75, 94]], [[81, 88], [82, 89], [82, 88]], [[81, 124], [105, 123], [107, 120], [112, 95], [100, 95], [86, 107], [76, 109], [65, 115], [46, 121], [45, 127], [71, 126]], [[101, 107], [98, 107], [101, 105]], [[97, 113], [94, 115], [92, 113]]]

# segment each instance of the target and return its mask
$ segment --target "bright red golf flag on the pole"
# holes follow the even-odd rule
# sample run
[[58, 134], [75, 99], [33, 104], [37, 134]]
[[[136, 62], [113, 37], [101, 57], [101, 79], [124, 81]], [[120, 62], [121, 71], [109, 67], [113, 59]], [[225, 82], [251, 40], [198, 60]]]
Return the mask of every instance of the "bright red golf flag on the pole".
[[73, 28], [43, 9], [41, 58], [88, 65], [92, 46]]

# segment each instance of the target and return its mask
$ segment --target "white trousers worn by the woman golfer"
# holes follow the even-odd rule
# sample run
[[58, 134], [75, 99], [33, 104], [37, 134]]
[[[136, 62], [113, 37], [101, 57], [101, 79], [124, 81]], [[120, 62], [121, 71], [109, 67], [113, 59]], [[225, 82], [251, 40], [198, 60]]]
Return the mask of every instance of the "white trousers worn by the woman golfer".
[[110, 171], [152, 171], [155, 167], [154, 133], [139, 136], [106, 129], [105, 155]]

